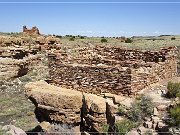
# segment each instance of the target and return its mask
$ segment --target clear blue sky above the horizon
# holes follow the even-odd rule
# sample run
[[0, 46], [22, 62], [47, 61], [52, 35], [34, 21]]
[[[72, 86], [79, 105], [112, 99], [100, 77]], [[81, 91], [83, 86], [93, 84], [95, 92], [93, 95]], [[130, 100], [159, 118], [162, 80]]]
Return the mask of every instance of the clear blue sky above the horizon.
[[[29, 3], [15, 3], [15, 2]], [[37, 26], [41, 33], [87, 36], [147, 36], [180, 34], [180, 1], [126, 0], [133, 3], [33, 3], [0, 0], [0, 31], [20, 32]], [[48, 2], [47, 0], [38, 0]], [[53, 0], [58, 1], [58, 0]], [[98, 2], [112, 2], [99, 0]], [[114, 2], [122, 2], [113, 0]], [[49, 0], [50, 2], [50, 0]], [[62, 2], [62, 1], [58, 1]], [[64, 2], [88, 2], [68, 0]], [[89, 2], [93, 2], [92, 0]], [[94, 2], [97, 2], [94, 0]], [[159, 3], [156, 3], [159, 2]], [[165, 3], [163, 3], [165, 2]]]

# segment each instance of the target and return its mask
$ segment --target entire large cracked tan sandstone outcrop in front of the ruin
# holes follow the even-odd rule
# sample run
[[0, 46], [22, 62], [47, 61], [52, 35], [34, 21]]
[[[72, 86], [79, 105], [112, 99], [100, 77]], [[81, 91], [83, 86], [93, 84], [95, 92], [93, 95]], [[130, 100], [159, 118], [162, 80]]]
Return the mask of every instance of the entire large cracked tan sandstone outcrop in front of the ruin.
[[[48, 84], [45, 81], [31, 82], [25, 86], [26, 96], [35, 105], [35, 114], [39, 122], [50, 122], [70, 125], [74, 134], [81, 132], [103, 132], [103, 125], [115, 125], [118, 105], [123, 104], [124, 98], [116, 95], [82, 93], [73, 89], [66, 89]], [[107, 96], [114, 98], [114, 103], [107, 100]]]

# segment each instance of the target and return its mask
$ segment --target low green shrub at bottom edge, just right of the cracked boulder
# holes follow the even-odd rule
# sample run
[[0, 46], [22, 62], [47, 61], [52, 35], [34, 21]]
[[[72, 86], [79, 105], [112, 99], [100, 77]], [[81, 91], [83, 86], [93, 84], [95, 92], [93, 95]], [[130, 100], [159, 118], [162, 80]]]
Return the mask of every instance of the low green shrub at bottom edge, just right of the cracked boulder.
[[128, 119], [125, 119], [121, 122], [117, 122], [115, 126], [116, 126], [116, 130], [118, 132], [118, 135], [125, 135], [132, 128], [137, 127], [137, 124]]

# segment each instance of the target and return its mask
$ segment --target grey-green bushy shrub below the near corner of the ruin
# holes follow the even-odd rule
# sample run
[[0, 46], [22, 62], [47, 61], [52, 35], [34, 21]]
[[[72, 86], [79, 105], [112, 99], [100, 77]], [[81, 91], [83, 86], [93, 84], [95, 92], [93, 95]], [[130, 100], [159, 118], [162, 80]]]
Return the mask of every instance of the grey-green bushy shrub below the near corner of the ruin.
[[142, 121], [144, 117], [148, 117], [153, 113], [152, 99], [148, 96], [141, 95], [131, 105], [132, 108], [127, 115], [133, 121]]

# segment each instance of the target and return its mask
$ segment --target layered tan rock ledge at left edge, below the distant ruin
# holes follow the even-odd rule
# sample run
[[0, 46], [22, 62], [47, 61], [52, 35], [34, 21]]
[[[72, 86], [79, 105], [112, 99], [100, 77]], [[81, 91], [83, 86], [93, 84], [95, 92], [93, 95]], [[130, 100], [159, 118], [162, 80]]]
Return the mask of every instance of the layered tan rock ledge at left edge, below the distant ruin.
[[30, 40], [10, 36], [0, 40], [0, 79], [25, 75], [40, 61], [39, 45]]

